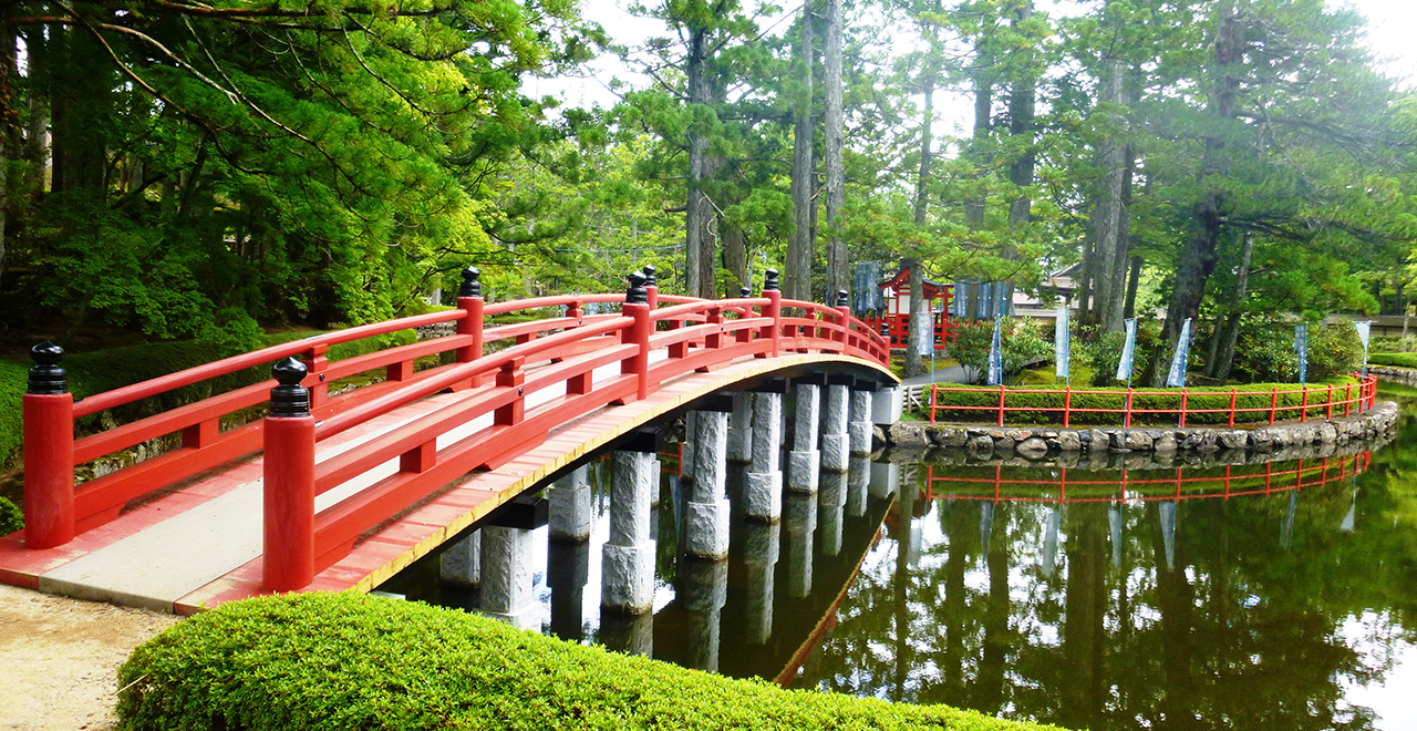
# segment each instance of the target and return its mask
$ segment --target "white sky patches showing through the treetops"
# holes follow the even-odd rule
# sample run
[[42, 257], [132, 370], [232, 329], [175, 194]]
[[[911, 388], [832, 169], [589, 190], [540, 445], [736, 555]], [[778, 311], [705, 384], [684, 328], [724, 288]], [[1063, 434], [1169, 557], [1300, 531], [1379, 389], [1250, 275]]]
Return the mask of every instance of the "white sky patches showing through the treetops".
[[[751, 0], [750, 0], [751, 1]], [[1367, 44], [1382, 61], [1380, 68], [1413, 88], [1417, 82], [1417, 0], [1325, 0], [1329, 7], [1350, 6], [1367, 17]], [[665, 34], [665, 27], [655, 20], [638, 18], [625, 11], [628, 0], [582, 0], [582, 14], [601, 23], [615, 42], [638, 45], [646, 38]], [[1067, 14], [1078, 3], [1073, 0], [1039, 0], [1039, 8], [1051, 14]], [[782, 7], [796, 11], [799, 3], [782, 3]], [[779, 16], [781, 17], [781, 16]], [[771, 21], [769, 21], [771, 23]], [[778, 23], [775, 33], [786, 30], [789, 23]], [[648, 79], [638, 78], [612, 57], [604, 57], [589, 65], [581, 78], [530, 79], [527, 92], [533, 96], [553, 95], [563, 105], [578, 108], [588, 105], [611, 106], [616, 96], [606, 84], [612, 78], [643, 85]], [[961, 94], [938, 92], [937, 109], [941, 113], [941, 128], [945, 135], [964, 133], [972, 115], [969, 99]]]

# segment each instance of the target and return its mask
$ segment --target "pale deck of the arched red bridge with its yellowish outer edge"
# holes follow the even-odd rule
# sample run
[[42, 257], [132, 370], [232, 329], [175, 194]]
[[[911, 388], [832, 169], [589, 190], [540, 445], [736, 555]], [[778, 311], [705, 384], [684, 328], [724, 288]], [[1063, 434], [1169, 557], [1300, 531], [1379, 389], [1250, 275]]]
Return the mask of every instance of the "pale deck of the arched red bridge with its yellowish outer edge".
[[[551, 429], [543, 445], [496, 470], [466, 475], [370, 531], [347, 557], [317, 574], [305, 591], [367, 592], [560, 468], [639, 425], [735, 381], [823, 361], [864, 363], [833, 354], [743, 358], [711, 373], [666, 381], [648, 400], [601, 408], [568, 421]], [[317, 460], [357, 449], [419, 415], [476, 392], [439, 394], [393, 411], [320, 442]], [[553, 391], [541, 398], [555, 395]], [[483, 421], [490, 424], [490, 416], [442, 436], [439, 449], [485, 428]], [[156, 493], [118, 520], [58, 548], [26, 548], [23, 531], [0, 538], [0, 581], [181, 615], [262, 594], [262, 469], [256, 456], [210, 470]], [[383, 472], [374, 470], [322, 494], [317, 509], [395, 469], [397, 459]]]

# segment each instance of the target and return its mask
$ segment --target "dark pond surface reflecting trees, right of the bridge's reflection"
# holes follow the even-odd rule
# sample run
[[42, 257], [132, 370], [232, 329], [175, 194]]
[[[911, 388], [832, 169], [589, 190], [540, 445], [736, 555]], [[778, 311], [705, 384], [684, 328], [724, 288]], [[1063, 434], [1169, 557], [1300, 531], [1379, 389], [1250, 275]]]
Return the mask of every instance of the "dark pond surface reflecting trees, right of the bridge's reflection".
[[1270, 496], [995, 503], [917, 479], [795, 686], [1094, 731], [1394, 728], [1346, 694], [1417, 643], [1413, 415], [1356, 482]]

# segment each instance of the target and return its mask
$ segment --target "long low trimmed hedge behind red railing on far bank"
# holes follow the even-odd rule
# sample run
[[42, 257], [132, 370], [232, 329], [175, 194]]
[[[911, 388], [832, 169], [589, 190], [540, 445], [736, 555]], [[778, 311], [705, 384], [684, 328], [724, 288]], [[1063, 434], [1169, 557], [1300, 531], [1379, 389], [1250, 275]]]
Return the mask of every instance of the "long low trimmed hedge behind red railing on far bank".
[[[1350, 395], [1353, 398], [1359, 394], [1357, 381], [1352, 377], [1335, 378], [1331, 381], [1333, 384], [1333, 401], [1345, 401], [1345, 385], [1352, 385]], [[1322, 418], [1326, 415], [1328, 407], [1328, 391], [1326, 382], [1323, 384], [1309, 384], [1309, 408], [1308, 418]], [[955, 388], [951, 385], [951, 388]], [[939, 391], [935, 397], [937, 408], [935, 421], [945, 422], [996, 422], [999, 412], [996, 411], [999, 405], [999, 387], [996, 385], [965, 385], [958, 388], [968, 388], [968, 391]], [[1236, 414], [1236, 424], [1254, 424], [1270, 421], [1270, 401], [1272, 398], [1272, 390], [1278, 388], [1281, 391], [1278, 397], [1278, 407], [1299, 407], [1302, 404], [1302, 394], [1282, 394], [1282, 391], [1297, 391], [1298, 384], [1246, 384], [1233, 387], [1236, 391], [1236, 409], [1254, 408], [1264, 411], [1247, 411]], [[1186, 425], [1203, 425], [1203, 424], [1230, 424], [1230, 390], [1231, 387], [1213, 387], [1213, 388], [1190, 388], [1186, 397]], [[1074, 388], [1071, 408], [1108, 408], [1108, 409], [1122, 409], [1127, 407], [1127, 395], [1104, 395], [1094, 391], [1108, 391], [1107, 388]], [[1114, 388], [1111, 391], [1121, 391]], [[930, 392], [924, 394], [924, 400], [928, 404]], [[1037, 392], [1019, 392], [1010, 390], [1005, 397], [1005, 407], [1009, 409], [1022, 411], [1007, 411], [1003, 416], [1005, 424], [1063, 424], [1061, 411], [1036, 411], [1043, 408], [1057, 408], [1061, 409], [1064, 402], [1064, 394], [1037, 394]], [[948, 407], [990, 407], [990, 409], [958, 409]], [[1132, 391], [1132, 408], [1134, 409], [1152, 409], [1152, 408], [1180, 408], [1180, 388], [1138, 388]], [[1226, 412], [1216, 414], [1195, 414], [1192, 409], [1226, 409]], [[1343, 407], [1335, 407], [1336, 414], [1342, 414]], [[1034, 411], [1030, 411], [1034, 409]], [[930, 418], [928, 407], [925, 418]], [[1090, 414], [1074, 411], [1070, 419], [1071, 425], [1088, 425], [1088, 424], [1119, 424], [1121, 415], [1117, 414]], [[1278, 421], [1297, 419], [1299, 418], [1299, 409], [1292, 408], [1289, 411], [1280, 411], [1277, 415]], [[1132, 414], [1132, 424], [1136, 425], [1176, 425], [1176, 414]]]

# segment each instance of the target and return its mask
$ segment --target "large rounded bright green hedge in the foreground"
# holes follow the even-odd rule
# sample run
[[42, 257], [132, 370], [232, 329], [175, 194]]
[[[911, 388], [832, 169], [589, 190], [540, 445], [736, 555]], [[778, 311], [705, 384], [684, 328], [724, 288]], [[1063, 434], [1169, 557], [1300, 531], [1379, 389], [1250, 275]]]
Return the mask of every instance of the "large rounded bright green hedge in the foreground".
[[119, 728], [149, 731], [1050, 728], [781, 690], [357, 594], [224, 605], [133, 650], [118, 684]]

